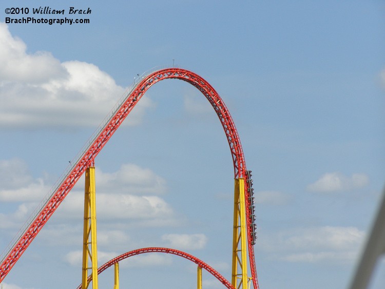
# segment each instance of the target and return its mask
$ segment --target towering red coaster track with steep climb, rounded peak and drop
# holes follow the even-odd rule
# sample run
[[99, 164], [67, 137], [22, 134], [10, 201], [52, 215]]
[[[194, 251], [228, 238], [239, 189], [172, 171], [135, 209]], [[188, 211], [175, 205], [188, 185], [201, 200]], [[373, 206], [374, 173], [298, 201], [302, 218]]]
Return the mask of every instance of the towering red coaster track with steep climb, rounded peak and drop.
[[[83, 175], [86, 168], [92, 164], [95, 157], [97, 157], [98, 153], [111, 138], [112, 134], [118, 129], [132, 108], [143, 97], [143, 94], [147, 91], [147, 89], [150, 88], [153, 84], [165, 79], [179, 79], [186, 81], [191, 85], [194, 85], [203, 93], [203, 95], [216, 111], [226, 134], [227, 142], [229, 144], [230, 152], [233, 158], [235, 178], [247, 179], [246, 164], [237, 129], [228, 109], [226, 108], [224, 102], [220, 98], [219, 94], [215, 91], [215, 89], [201, 76], [185, 69], [173, 67], [151, 72], [142, 76], [139, 82], [137, 84], [135, 83], [132, 86], [132, 89], [128, 90], [122, 102], [117, 106], [117, 109], [113, 111], [111, 117], [107, 120], [105, 125], [97, 131], [97, 134], [95, 134], [95, 137], [90, 142], [90, 145], [86, 146], [80, 157], [75, 159], [68, 174], [64, 175], [63, 179], [60, 181], [60, 184], [53, 190], [52, 195], [43, 204], [42, 208], [36, 213], [27, 228], [21, 231], [20, 236], [17, 236], [15, 239], [16, 241], [11, 245], [8, 253], [6, 253], [4, 259], [2, 260], [0, 267], [0, 282], [3, 281], [13, 265], [22, 256], [32, 240], [47, 223], [56, 208], [62, 203], [64, 198], [68, 195], [69, 191]], [[245, 191], [247, 191], [248, 188], [249, 184], [248, 182], [245, 182]], [[245, 199], [246, 216], [249, 216], [251, 213], [251, 204], [248, 198]], [[254, 260], [254, 247], [251, 238], [251, 224], [252, 222], [249, 220], [249, 218], [247, 218], [249, 262], [254, 288], [257, 289], [259, 286]]]

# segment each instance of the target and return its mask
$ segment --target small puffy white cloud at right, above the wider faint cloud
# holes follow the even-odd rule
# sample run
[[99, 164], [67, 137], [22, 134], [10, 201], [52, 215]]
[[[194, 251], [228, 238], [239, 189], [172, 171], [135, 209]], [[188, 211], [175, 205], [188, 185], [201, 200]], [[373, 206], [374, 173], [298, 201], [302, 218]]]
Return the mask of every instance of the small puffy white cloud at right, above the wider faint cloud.
[[369, 177], [365, 174], [353, 174], [346, 177], [340, 172], [328, 172], [321, 176], [315, 183], [306, 187], [309, 191], [334, 192], [358, 189], [369, 183]]

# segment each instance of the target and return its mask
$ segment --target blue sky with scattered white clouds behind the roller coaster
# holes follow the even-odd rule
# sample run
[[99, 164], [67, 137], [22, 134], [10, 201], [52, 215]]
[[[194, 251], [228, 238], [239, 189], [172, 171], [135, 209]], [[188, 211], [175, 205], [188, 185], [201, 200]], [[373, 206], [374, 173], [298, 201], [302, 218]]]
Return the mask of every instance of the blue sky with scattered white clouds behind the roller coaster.
[[[0, 251], [141, 74], [192, 70], [226, 103], [256, 191], [261, 288], [349, 283], [384, 184], [385, 5], [380, 1], [18, 1], [91, 8], [90, 24], [0, 19]], [[48, 17], [48, 16], [47, 16]], [[231, 274], [233, 168], [194, 87], [151, 87], [95, 160], [99, 263], [147, 246]], [[81, 281], [82, 179], [4, 289]], [[371, 287], [385, 285], [380, 262]], [[151, 276], [151, 278], [149, 278]], [[203, 275], [204, 288], [221, 284]], [[112, 287], [113, 272], [100, 277]], [[121, 286], [195, 288], [195, 264], [122, 262]]]

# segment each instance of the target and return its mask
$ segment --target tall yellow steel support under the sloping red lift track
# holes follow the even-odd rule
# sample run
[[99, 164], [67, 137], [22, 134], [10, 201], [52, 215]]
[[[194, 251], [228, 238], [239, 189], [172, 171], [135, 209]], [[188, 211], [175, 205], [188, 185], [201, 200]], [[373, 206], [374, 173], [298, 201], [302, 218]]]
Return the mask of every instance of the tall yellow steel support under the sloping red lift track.
[[[88, 271], [92, 274], [92, 289], [98, 289], [98, 252], [96, 226], [96, 198], [95, 198], [95, 168], [86, 169], [84, 190], [84, 227], [83, 227], [83, 268], [82, 288], [87, 289]], [[90, 261], [90, 266], [89, 262]]]

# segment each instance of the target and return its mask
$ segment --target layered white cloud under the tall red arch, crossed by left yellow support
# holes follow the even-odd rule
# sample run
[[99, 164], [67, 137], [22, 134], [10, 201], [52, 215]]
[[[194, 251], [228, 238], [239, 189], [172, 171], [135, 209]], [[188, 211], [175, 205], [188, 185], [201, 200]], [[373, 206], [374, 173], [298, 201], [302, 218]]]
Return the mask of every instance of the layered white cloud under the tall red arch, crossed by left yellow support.
[[[95, 170], [97, 213], [99, 221], [135, 220], [140, 225], [162, 226], [178, 222], [172, 207], [153, 196], [166, 191], [166, 181], [150, 169], [123, 164], [118, 171]], [[59, 208], [62, 218], [82, 218], [84, 176]], [[140, 196], [134, 195], [140, 193]], [[145, 223], [143, 223], [143, 221]]]

